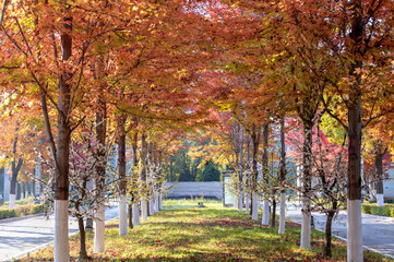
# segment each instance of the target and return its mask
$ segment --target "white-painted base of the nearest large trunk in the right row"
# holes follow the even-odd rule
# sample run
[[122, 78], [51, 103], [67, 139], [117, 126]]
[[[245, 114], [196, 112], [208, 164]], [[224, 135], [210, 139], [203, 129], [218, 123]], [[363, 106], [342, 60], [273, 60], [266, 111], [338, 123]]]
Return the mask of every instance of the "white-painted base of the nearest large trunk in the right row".
[[348, 262], [363, 261], [361, 200], [347, 200], [347, 254]]

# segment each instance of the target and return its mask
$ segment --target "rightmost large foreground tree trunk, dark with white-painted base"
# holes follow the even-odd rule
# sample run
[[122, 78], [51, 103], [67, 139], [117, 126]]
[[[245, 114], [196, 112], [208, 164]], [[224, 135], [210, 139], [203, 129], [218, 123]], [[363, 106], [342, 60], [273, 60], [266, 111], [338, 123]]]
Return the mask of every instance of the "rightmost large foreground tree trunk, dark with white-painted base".
[[355, 78], [349, 87], [348, 102], [348, 187], [347, 187], [347, 261], [362, 261], [362, 224], [361, 224], [361, 74], [356, 69], [362, 68], [363, 10], [360, 0], [354, 0], [351, 7], [351, 59], [349, 75]]

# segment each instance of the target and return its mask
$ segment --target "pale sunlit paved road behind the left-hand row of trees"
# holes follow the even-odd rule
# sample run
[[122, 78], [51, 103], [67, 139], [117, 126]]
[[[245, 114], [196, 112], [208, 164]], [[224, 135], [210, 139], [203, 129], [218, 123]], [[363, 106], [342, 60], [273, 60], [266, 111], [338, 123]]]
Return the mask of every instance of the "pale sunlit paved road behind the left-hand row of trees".
[[[118, 216], [118, 209], [107, 209], [105, 218], [109, 221]], [[0, 221], [0, 261], [12, 261], [53, 241], [53, 215], [47, 219], [43, 215], [27, 218]], [[77, 223], [70, 218], [69, 235], [77, 233]]]

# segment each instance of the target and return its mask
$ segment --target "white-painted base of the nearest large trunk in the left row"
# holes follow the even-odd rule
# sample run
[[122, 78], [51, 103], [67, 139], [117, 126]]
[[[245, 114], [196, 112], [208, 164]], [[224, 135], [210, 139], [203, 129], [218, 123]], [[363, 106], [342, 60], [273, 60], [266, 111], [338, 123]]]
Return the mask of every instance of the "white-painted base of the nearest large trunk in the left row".
[[55, 200], [55, 262], [70, 262], [69, 201]]

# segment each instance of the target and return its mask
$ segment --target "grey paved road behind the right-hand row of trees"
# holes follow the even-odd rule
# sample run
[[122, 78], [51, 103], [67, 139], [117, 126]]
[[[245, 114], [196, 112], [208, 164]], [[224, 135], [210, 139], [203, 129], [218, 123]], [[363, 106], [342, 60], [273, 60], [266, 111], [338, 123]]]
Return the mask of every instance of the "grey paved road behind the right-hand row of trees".
[[[286, 216], [300, 223], [301, 211], [299, 206], [289, 205]], [[324, 214], [313, 213], [317, 229], [324, 230], [326, 217]], [[333, 222], [333, 234], [346, 239], [347, 213], [339, 212]], [[366, 248], [394, 259], [394, 218], [362, 214], [362, 243]]]

